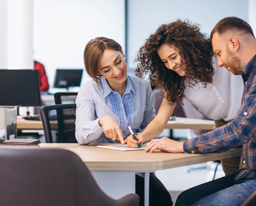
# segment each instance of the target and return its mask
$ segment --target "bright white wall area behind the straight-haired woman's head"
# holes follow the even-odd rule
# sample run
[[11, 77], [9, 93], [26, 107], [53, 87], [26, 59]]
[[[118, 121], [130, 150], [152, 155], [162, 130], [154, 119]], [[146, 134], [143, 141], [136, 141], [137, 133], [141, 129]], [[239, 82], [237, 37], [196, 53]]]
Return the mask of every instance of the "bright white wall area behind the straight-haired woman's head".
[[[85, 45], [108, 37], [125, 47], [123, 0], [34, 0], [34, 58], [50, 87], [56, 68], [84, 68]], [[82, 83], [90, 78], [83, 75]]]

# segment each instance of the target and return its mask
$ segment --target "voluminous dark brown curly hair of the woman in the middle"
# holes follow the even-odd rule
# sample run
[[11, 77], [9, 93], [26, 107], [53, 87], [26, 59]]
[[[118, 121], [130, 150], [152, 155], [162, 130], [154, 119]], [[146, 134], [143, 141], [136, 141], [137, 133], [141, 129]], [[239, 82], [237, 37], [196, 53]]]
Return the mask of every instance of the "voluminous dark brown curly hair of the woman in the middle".
[[[177, 20], [170, 24], [161, 25], [153, 35], [150, 35], [142, 46], [134, 62], [138, 62], [135, 74], [143, 78], [149, 73], [150, 83], [161, 89], [162, 95], [167, 98], [170, 105], [173, 102], [183, 104], [185, 84], [189, 87], [201, 82], [203, 87], [212, 82], [214, 68], [212, 57], [214, 55], [212, 44], [207, 36], [200, 32], [201, 25], [189, 20]], [[163, 44], [175, 46], [186, 65], [184, 77], [169, 70], [158, 56], [157, 50]]]

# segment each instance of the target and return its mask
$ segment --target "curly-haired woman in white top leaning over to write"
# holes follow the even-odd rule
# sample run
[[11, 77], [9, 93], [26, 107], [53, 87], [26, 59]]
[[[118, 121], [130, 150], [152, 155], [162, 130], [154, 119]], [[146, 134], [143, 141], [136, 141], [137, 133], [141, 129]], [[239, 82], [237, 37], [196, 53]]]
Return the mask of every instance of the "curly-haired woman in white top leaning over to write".
[[[218, 67], [212, 44], [200, 32], [199, 24], [177, 20], [161, 25], [140, 48], [135, 61], [139, 62], [137, 75], [149, 73], [151, 84], [164, 96], [157, 116], [138, 136], [141, 142], [163, 131], [176, 104], [183, 104], [184, 98], [215, 119], [216, 128], [231, 121], [240, 107], [243, 79]], [[128, 146], [134, 147], [129, 140]], [[238, 170], [239, 162], [239, 157], [222, 161], [225, 174]]]

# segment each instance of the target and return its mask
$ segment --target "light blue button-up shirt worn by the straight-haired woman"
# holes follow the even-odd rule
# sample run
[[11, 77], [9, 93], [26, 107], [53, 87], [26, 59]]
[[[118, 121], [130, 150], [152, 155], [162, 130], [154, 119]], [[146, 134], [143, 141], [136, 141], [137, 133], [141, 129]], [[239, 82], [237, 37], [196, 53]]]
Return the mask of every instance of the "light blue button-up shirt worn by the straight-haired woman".
[[[82, 85], [77, 96], [76, 138], [80, 144], [120, 143], [104, 134], [99, 119], [109, 115], [119, 124], [124, 139], [133, 132], [141, 133], [155, 118], [154, 95], [150, 85], [143, 79], [127, 75], [127, 86], [121, 97], [114, 92], [104, 77], [102, 87], [94, 80]], [[113, 111], [115, 110], [115, 111]]]

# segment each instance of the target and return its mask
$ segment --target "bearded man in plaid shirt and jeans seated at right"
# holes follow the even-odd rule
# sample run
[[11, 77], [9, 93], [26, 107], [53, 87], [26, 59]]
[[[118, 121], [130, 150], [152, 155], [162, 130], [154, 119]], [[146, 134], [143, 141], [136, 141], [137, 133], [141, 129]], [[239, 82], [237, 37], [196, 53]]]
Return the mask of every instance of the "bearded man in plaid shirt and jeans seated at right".
[[243, 164], [236, 173], [183, 192], [175, 205], [240, 205], [256, 190], [256, 40], [250, 25], [236, 17], [219, 21], [210, 40], [218, 66], [243, 77], [243, 99], [236, 117], [223, 127], [185, 142], [152, 140], [145, 151], [208, 153], [243, 145]]

